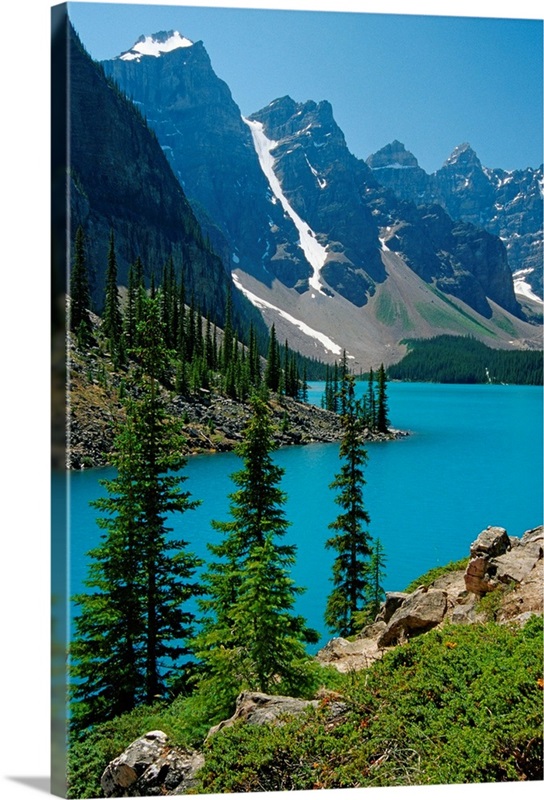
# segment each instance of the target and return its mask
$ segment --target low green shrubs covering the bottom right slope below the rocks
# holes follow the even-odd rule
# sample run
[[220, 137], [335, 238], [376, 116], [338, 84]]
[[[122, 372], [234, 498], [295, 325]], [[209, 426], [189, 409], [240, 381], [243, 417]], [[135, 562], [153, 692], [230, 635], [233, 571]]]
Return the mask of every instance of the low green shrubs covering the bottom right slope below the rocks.
[[542, 779], [542, 619], [431, 631], [336, 685], [281, 727], [238, 725], [205, 747], [203, 792]]

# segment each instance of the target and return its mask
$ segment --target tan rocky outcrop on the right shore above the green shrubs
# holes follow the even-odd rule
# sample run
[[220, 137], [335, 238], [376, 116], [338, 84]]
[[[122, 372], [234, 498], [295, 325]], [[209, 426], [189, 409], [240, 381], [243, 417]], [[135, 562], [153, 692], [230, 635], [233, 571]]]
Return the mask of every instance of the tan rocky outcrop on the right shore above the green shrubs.
[[353, 640], [331, 639], [317, 654], [323, 665], [339, 672], [364, 669], [388, 649], [444, 625], [484, 622], [480, 605], [496, 591], [494, 619], [523, 624], [543, 613], [544, 528], [531, 529], [518, 539], [504, 528], [490, 526], [470, 548], [466, 570], [444, 573], [414, 592], [388, 592], [372, 625]]

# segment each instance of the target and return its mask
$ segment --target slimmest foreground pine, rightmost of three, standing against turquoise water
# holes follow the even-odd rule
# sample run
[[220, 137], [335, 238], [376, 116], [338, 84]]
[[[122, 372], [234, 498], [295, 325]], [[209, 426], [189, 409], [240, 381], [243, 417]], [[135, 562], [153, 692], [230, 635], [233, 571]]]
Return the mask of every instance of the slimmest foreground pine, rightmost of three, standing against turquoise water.
[[348, 636], [355, 632], [354, 615], [361, 609], [368, 589], [367, 559], [372, 550], [371, 537], [366, 530], [370, 518], [363, 503], [363, 467], [367, 462], [367, 452], [363, 445], [360, 404], [355, 399], [353, 376], [346, 376], [342, 392], [346, 408], [340, 444], [343, 464], [330, 486], [339, 490], [335, 502], [342, 508], [342, 513], [329, 525], [335, 535], [325, 543], [328, 549], [337, 553], [332, 568], [334, 589], [327, 599], [325, 622], [331, 631]]

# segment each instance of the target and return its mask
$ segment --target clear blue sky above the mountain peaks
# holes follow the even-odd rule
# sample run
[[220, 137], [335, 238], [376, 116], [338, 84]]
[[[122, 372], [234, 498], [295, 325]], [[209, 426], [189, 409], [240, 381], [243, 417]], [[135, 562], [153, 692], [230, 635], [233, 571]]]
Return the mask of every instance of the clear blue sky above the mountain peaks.
[[69, 8], [98, 60], [142, 33], [172, 28], [201, 39], [243, 114], [286, 94], [329, 100], [360, 158], [399, 139], [427, 171], [462, 142], [485, 166], [542, 162], [542, 20], [155, 3]]

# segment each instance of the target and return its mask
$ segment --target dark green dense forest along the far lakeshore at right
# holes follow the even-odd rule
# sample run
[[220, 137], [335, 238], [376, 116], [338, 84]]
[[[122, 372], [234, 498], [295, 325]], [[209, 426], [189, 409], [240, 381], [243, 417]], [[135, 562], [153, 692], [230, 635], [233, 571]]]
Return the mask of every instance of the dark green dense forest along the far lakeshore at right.
[[448, 335], [406, 344], [406, 356], [388, 368], [393, 380], [542, 385], [541, 350], [495, 350], [472, 337]]

